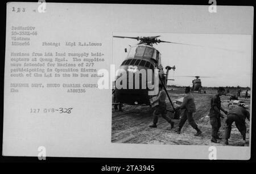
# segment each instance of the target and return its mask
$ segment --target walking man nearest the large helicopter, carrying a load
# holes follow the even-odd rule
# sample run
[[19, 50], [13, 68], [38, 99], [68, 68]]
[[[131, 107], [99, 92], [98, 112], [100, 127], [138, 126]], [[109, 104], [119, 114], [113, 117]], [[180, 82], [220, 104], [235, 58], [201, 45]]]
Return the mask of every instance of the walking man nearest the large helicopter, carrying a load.
[[171, 118], [166, 116], [166, 91], [163, 90], [163, 86], [162, 84], [159, 84], [159, 95], [158, 95], [158, 99], [153, 101], [151, 103], [154, 104], [156, 102], [158, 102], [158, 105], [156, 106], [156, 109], [153, 113], [154, 119], [153, 119], [153, 124], [150, 125], [150, 128], [156, 128], [156, 124], [158, 123], [158, 115], [161, 114], [162, 117], [171, 124], [171, 129], [174, 128], [174, 122], [171, 120]]

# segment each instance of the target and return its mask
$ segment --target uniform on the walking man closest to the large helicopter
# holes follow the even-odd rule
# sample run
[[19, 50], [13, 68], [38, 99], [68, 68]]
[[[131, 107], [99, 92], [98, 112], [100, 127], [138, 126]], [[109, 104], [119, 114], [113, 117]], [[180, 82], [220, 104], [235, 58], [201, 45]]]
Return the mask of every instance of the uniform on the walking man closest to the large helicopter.
[[153, 124], [157, 124], [158, 122], [158, 115], [161, 114], [162, 117], [168, 121], [169, 123], [171, 123], [171, 118], [167, 117], [167, 111], [166, 111], [166, 92], [161, 90], [159, 92], [159, 96], [158, 96], [158, 106], [156, 106], [156, 109], [153, 113], [154, 115], [154, 120], [153, 120]]

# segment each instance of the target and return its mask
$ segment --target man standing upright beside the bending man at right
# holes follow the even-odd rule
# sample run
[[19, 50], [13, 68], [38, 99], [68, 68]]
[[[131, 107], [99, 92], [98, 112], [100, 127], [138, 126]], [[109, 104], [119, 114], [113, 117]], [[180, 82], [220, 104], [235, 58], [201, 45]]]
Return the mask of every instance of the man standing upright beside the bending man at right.
[[211, 141], [214, 143], [217, 143], [217, 139], [221, 139], [218, 137], [217, 133], [220, 130], [221, 127], [221, 117], [224, 118], [224, 116], [220, 113], [220, 111], [227, 114], [228, 112], [225, 111], [221, 107], [221, 100], [220, 96], [225, 94], [225, 89], [223, 87], [218, 87], [218, 92], [216, 95], [212, 97], [210, 100], [210, 125], [212, 125], [212, 139]]

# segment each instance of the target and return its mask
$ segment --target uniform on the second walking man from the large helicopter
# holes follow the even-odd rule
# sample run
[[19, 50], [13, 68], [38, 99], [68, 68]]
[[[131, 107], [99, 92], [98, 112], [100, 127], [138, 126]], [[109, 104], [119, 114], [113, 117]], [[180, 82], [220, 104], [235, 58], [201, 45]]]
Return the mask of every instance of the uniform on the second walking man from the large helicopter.
[[197, 124], [193, 119], [193, 112], [196, 112], [196, 105], [194, 102], [194, 97], [191, 94], [184, 97], [183, 103], [181, 104], [180, 109], [185, 109], [185, 110], [181, 115], [179, 128], [181, 129], [185, 124], [185, 121], [188, 120], [192, 128], [197, 129]]

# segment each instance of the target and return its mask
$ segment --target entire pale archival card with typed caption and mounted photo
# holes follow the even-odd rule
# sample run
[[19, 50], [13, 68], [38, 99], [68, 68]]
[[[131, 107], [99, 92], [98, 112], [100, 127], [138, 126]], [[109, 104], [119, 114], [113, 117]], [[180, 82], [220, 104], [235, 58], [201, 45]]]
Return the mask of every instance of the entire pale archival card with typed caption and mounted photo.
[[253, 6], [5, 7], [5, 158], [251, 158]]

